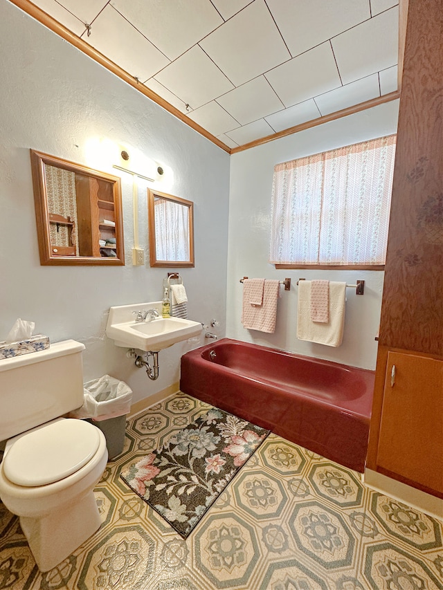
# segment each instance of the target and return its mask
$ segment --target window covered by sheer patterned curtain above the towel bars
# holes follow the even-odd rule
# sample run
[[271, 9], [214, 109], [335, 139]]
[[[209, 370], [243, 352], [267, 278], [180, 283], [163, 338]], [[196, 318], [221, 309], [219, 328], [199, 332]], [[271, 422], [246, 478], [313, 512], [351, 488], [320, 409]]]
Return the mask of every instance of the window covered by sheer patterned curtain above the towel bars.
[[274, 168], [269, 261], [280, 268], [383, 268], [396, 136]]

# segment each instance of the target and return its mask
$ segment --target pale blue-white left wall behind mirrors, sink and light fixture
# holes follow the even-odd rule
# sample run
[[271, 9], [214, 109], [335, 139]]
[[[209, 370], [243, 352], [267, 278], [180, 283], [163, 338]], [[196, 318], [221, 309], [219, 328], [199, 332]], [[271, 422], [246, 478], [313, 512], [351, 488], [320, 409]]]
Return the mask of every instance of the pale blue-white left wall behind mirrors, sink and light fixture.
[[174, 183], [165, 192], [195, 203], [195, 268], [181, 270], [189, 317], [217, 318], [220, 334], [229, 156], [5, 0], [0, 51], [0, 340], [17, 317], [33, 320], [35, 333], [53, 342], [84, 342], [84, 380], [109, 373], [132, 387], [134, 401], [151, 396], [179, 380], [180, 356], [192, 344], [161, 351], [153, 382], [105, 336], [109, 306], [161, 299], [163, 277], [174, 270], [149, 266], [145, 186], [138, 208], [145, 266], [132, 266], [132, 178], [124, 173], [126, 266], [40, 266], [29, 149], [88, 165], [88, 140], [105, 137], [170, 166]]

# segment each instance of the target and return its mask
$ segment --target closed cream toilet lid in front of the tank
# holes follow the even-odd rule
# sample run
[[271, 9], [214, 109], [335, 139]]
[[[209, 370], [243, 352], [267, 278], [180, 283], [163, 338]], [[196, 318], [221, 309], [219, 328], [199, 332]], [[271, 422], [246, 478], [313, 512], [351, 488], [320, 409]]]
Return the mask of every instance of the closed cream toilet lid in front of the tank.
[[20, 436], [3, 459], [3, 472], [19, 486], [44, 486], [78, 471], [96, 454], [98, 428], [66, 418]]

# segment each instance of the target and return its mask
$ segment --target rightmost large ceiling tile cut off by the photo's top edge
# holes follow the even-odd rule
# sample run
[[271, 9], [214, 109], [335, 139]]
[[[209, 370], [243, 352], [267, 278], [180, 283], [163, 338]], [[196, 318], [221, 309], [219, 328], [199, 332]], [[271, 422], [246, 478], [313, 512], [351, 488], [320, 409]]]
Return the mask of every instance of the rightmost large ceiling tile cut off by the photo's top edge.
[[293, 56], [370, 18], [368, 0], [267, 0]]

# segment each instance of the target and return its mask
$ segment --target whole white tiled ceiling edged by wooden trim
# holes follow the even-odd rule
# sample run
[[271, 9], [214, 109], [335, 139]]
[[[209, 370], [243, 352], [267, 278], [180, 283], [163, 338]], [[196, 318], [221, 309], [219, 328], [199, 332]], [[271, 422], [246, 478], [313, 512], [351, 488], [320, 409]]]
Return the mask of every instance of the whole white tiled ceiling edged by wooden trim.
[[229, 148], [397, 90], [398, 0], [33, 3]]

